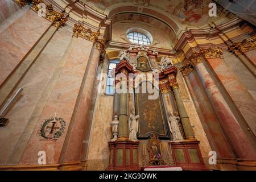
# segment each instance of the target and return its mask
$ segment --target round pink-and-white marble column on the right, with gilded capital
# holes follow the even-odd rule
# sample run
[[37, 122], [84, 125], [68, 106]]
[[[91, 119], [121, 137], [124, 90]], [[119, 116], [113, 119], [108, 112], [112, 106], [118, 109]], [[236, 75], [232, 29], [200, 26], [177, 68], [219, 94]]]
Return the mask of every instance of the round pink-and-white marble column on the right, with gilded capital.
[[232, 143], [237, 157], [255, 159], [256, 153], [253, 147], [248, 142], [245, 133], [243, 133], [236, 117], [234, 117], [228, 104], [220, 93], [220, 90], [218, 90], [217, 85], [210, 77], [202, 60], [203, 58], [199, 57], [192, 62], [222, 128], [225, 130], [226, 135], [228, 135], [228, 138]]

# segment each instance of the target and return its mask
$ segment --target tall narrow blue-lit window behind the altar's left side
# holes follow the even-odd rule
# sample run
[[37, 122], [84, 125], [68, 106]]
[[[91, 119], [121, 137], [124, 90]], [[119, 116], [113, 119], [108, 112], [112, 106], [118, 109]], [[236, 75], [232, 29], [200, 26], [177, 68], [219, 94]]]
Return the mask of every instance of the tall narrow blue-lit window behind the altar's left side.
[[110, 60], [109, 61], [109, 68], [108, 68], [108, 78], [106, 82], [106, 94], [113, 95], [114, 94], [114, 74], [113, 69], [117, 66], [119, 60]]

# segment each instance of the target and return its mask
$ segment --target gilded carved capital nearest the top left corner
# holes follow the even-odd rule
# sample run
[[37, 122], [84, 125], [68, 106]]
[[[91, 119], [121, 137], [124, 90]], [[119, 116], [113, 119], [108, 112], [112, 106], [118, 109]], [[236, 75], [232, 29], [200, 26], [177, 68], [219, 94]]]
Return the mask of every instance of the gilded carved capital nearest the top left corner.
[[[42, 6], [42, 3], [45, 6]], [[47, 5], [44, 3], [42, 0], [32, 0], [32, 10], [34, 10], [36, 13], [40, 14], [40, 11], [42, 11], [41, 16], [49, 20], [50, 22], [53, 23], [55, 27], [61, 27], [64, 26], [65, 23], [67, 22], [67, 18], [64, 16], [63, 13], [59, 13], [55, 10], [53, 10], [52, 5]], [[38, 12], [39, 11], [39, 12]]]

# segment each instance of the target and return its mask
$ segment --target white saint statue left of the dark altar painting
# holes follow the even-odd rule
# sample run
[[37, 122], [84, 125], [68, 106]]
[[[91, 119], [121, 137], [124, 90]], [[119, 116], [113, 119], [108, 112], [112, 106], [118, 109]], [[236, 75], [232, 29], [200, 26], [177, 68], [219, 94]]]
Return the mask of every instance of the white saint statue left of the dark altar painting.
[[129, 116], [129, 139], [132, 141], [137, 141], [137, 132], [139, 128], [139, 115], [135, 115], [135, 110], [131, 110]]

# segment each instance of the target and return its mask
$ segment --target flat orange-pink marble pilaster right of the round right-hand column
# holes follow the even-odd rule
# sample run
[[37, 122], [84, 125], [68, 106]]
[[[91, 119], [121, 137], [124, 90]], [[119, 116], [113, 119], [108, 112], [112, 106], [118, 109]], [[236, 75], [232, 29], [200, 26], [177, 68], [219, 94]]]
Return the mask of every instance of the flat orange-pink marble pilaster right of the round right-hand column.
[[[208, 59], [210, 67], [214, 70], [218, 80], [222, 83], [229, 96], [232, 98], [234, 104], [236, 104], [237, 109], [242, 114], [247, 124], [250, 126], [251, 131], [255, 134], [256, 130], [256, 101], [247, 92], [243, 84], [237, 80], [236, 76], [232, 70], [228, 67], [222, 59]], [[247, 131], [247, 125], [242, 125], [241, 127]], [[253, 140], [252, 140], [253, 142]]]

